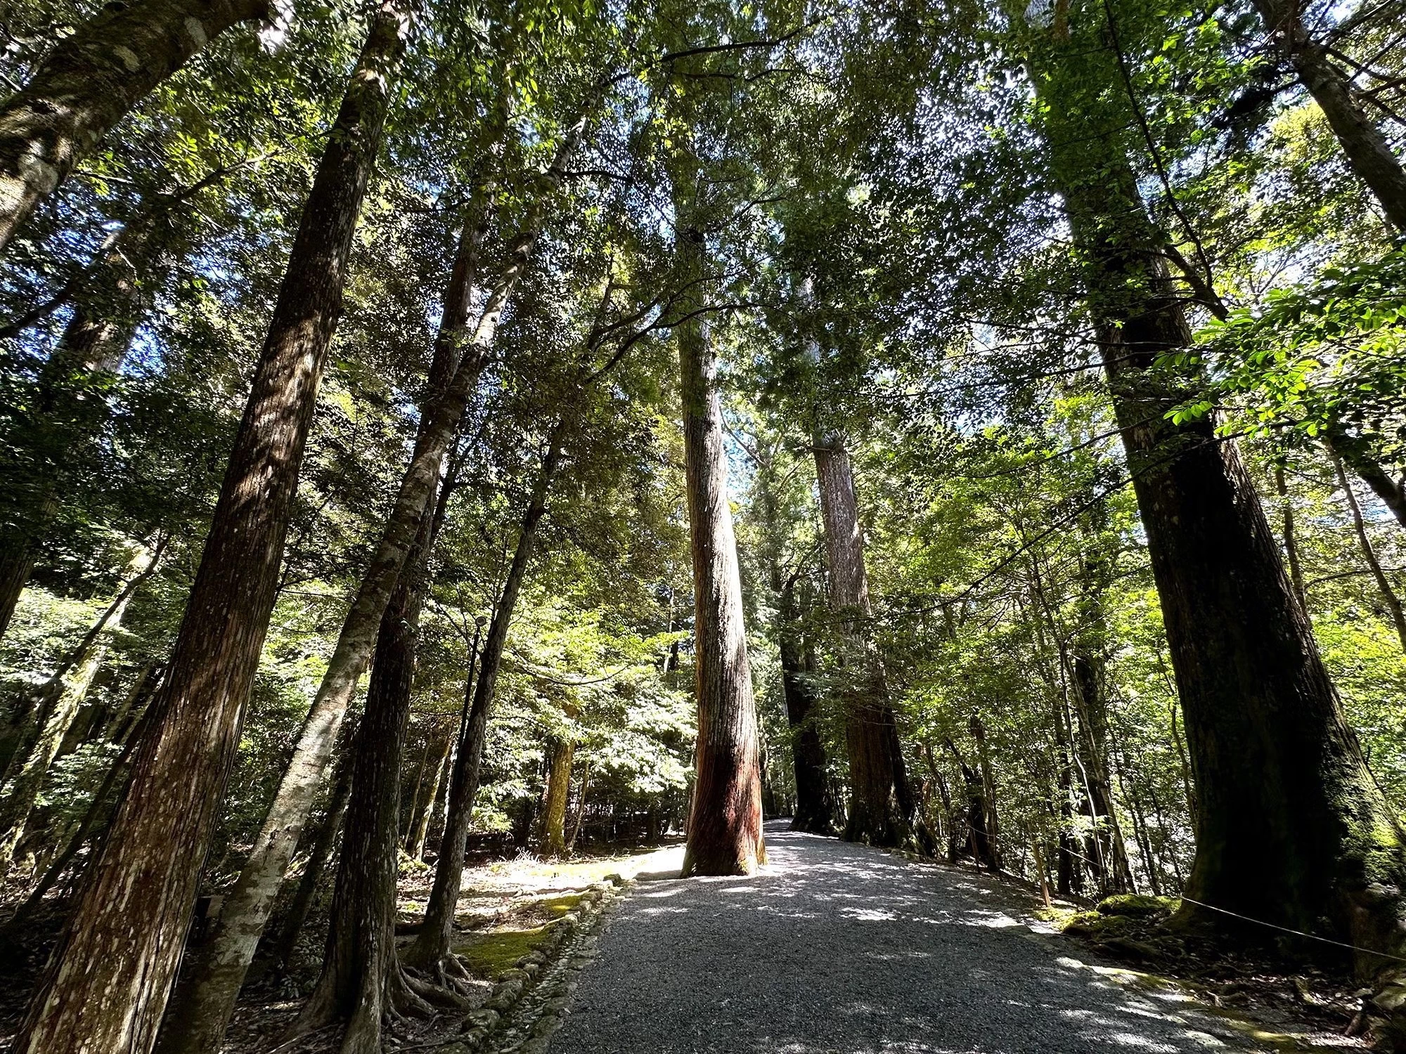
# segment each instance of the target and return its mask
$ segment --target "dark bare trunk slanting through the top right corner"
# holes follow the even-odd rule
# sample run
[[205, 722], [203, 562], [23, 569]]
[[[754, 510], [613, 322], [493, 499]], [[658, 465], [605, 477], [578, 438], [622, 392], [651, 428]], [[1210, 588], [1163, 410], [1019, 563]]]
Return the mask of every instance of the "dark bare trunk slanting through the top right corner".
[[1254, 0], [1254, 6], [1327, 118], [1348, 166], [1382, 202], [1396, 229], [1406, 230], [1406, 170], [1386, 136], [1353, 98], [1353, 87], [1333, 63], [1327, 46], [1303, 25], [1303, 8], [1294, 0]]

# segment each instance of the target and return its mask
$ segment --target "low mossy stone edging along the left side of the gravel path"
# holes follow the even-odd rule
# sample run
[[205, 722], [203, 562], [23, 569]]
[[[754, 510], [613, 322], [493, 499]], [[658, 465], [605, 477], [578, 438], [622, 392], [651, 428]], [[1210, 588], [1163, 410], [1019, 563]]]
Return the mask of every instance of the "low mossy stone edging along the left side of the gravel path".
[[596, 958], [596, 933], [606, 908], [634, 885], [607, 874], [558, 919], [536, 951], [498, 974], [494, 991], [464, 1019], [456, 1040], [434, 1054], [541, 1054], [567, 1017], [576, 978]]

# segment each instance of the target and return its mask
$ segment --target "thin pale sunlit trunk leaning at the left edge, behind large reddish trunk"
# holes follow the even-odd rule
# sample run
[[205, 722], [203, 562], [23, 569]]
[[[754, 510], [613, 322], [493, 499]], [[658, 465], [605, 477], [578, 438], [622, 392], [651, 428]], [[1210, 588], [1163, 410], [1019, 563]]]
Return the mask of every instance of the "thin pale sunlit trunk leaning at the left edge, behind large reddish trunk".
[[91, 686], [93, 677], [107, 655], [103, 634], [110, 634], [122, 624], [127, 604], [138, 587], [156, 571], [165, 548], [166, 540], [163, 538], [155, 549], [142, 547], [132, 558], [132, 578], [127, 580], [117, 599], [103, 613], [96, 627], [97, 632], [90, 631], [84, 637], [82, 656], [73, 658], [72, 673], [66, 683], [62, 675], [51, 682], [51, 691], [58, 694], [58, 700], [55, 705], [41, 708], [44, 725], [34, 746], [24, 759], [22, 767], [0, 788], [0, 874], [10, 867], [15, 846], [20, 845], [20, 836], [34, 811], [34, 802], [39, 797], [44, 777], [48, 776], [49, 766], [58, 756], [59, 745], [77, 717], [79, 708], [87, 697], [89, 686]]

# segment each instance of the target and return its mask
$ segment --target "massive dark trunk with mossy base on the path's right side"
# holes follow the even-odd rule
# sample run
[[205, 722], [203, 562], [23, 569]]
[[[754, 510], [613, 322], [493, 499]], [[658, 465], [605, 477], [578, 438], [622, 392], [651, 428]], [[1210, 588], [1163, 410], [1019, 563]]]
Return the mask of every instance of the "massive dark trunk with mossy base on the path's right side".
[[[1070, 24], [1076, 39], [1035, 35], [1031, 66], [1185, 715], [1197, 856], [1184, 912], [1223, 925], [1199, 901], [1400, 954], [1402, 831], [1343, 717], [1239, 450], [1213, 419], [1171, 420], [1199, 378], [1152, 367], [1191, 343], [1182, 301], [1126, 160], [1132, 122], [1108, 103], [1121, 97], [1118, 72], [1090, 30], [1102, 17]], [[1371, 972], [1382, 960], [1360, 953], [1358, 965]], [[1378, 1001], [1395, 1010], [1406, 988]]]

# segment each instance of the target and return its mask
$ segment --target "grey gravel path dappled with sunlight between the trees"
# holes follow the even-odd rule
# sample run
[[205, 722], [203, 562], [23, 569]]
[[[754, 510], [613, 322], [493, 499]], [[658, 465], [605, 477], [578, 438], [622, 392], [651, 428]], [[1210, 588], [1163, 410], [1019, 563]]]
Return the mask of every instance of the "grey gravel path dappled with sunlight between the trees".
[[785, 821], [766, 838], [749, 878], [641, 876], [551, 1054], [1284, 1050], [1074, 958], [994, 883]]

